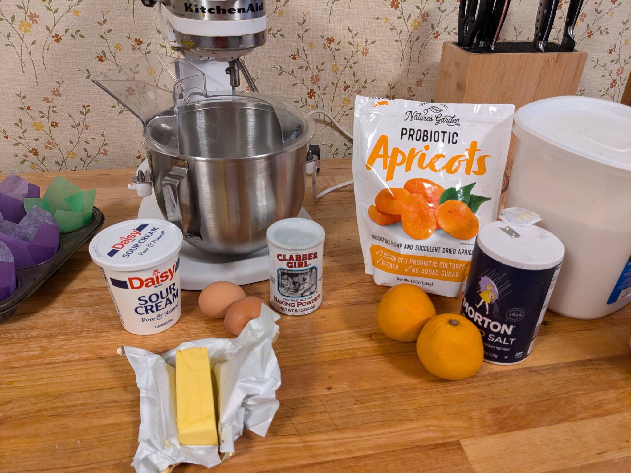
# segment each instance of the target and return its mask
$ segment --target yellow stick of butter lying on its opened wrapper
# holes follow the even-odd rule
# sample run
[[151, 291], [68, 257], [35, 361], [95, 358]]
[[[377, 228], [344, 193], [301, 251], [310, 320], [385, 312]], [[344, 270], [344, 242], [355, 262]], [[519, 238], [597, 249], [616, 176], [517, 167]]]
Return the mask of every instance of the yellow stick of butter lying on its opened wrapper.
[[175, 352], [175, 404], [180, 445], [218, 445], [208, 348]]

